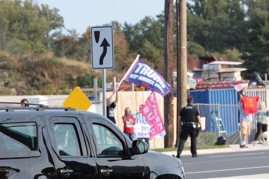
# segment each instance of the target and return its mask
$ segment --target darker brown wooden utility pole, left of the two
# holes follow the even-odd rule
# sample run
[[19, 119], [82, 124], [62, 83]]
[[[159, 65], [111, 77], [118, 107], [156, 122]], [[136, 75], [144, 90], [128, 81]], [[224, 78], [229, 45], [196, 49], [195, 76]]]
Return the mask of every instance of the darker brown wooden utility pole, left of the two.
[[[171, 62], [174, 58], [174, 3], [165, 0], [164, 4], [164, 78], [174, 88]], [[174, 90], [164, 97], [164, 147], [174, 147]]]

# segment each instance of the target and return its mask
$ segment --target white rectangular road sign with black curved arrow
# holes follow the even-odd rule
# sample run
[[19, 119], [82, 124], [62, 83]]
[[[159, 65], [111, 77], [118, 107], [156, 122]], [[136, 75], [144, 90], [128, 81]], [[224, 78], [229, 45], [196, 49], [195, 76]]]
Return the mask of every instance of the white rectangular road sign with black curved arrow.
[[92, 68], [114, 68], [113, 26], [91, 27], [90, 36]]

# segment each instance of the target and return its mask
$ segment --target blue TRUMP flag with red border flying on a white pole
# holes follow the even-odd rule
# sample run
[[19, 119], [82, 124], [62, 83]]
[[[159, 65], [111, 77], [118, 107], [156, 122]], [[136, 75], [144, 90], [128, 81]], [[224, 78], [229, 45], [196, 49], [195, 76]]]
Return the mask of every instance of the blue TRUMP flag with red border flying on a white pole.
[[171, 92], [172, 88], [168, 82], [166, 82], [158, 72], [138, 57], [139, 55], [130, 66], [127, 73], [125, 73], [122, 80], [151, 89], [152, 91], [160, 93], [163, 97]]

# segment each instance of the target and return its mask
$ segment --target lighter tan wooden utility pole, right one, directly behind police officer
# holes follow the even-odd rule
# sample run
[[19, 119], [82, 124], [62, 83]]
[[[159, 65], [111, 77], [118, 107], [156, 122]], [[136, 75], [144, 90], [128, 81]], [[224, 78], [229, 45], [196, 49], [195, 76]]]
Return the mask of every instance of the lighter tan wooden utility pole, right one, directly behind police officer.
[[[177, 0], [177, 117], [187, 104], [187, 3]], [[176, 146], [179, 144], [179, 121], [177, 121]]]

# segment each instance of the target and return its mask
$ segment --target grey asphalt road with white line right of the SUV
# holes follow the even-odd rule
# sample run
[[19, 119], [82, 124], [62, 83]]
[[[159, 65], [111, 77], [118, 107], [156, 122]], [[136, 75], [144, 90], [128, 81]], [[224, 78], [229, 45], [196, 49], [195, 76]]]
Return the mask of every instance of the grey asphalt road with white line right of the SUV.
[[180, 160], [183, 162], [187, 179], [269, 173], [269, 150], [200, 154], [197, 158], [186, 155], [181, 156]]

